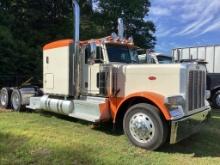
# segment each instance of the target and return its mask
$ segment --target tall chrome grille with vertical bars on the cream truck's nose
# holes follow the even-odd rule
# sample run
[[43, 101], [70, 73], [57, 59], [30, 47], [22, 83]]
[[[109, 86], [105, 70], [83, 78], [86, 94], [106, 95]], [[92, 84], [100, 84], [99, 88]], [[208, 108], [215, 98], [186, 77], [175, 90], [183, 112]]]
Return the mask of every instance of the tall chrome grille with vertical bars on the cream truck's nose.
[[189, 111], [205, 106], [206, 72], [191, 70], [189, 72], [188, 105]]

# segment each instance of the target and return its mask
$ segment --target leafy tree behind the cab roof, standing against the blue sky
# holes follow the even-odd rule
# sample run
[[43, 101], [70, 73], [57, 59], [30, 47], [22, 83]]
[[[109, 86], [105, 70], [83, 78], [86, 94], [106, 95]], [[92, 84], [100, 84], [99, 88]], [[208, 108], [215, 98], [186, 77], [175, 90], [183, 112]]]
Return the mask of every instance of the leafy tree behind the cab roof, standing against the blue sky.
[[96, 0], [96, 3], [99, 24], [103, 25], [107, 34], [117, 31], [117, 18], [121, 17], [124, 19], [126, 35], [133, 36], [136, 45], [148, 49], [154, 47], [155, 26], [144, 19], [149, 12], [149, 0]]

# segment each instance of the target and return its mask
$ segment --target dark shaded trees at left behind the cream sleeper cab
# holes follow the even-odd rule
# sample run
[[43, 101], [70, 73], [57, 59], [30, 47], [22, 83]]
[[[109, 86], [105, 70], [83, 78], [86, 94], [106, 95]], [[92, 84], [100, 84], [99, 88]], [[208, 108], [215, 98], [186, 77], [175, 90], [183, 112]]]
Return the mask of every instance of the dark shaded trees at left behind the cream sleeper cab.
[[[83, 21], [92, 6], [80, 0]], [[42, 77], [42, 47], [72, 38], [71, 0], [0, 0], [0, 74]], [[82, 24], [84, 24], [82, 22]], [[86, 38], [88, 29], [82, 28]]]

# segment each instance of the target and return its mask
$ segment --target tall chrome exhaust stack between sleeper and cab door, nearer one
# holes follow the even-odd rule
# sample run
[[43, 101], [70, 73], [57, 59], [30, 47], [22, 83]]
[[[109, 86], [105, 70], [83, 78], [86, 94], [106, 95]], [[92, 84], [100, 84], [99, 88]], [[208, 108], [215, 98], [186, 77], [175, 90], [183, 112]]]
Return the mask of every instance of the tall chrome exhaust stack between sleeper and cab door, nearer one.
[[79, 96], [79, 28], [80, 28], [80, 7], [76, 0], [72, 1], [73, 5], [73, 18], [74, 18], [74, 33], [73, 33], [73, 39], [74, 39], [74, 53], [73, 53], [73, 78], [72, 78], [72, 85], [73, 85], [73, 95], [75, 98]]

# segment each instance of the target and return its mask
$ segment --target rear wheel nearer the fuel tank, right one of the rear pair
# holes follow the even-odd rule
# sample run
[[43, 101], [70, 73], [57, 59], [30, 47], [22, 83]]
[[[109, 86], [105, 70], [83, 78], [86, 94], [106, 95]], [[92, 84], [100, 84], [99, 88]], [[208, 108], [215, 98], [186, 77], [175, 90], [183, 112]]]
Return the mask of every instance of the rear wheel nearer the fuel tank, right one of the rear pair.
[[14, 89], [11, 94], [11, 106], [14, 111], [21, 111], [23, 109], [22, 97], [18, 89]]

